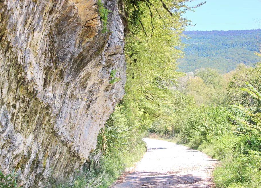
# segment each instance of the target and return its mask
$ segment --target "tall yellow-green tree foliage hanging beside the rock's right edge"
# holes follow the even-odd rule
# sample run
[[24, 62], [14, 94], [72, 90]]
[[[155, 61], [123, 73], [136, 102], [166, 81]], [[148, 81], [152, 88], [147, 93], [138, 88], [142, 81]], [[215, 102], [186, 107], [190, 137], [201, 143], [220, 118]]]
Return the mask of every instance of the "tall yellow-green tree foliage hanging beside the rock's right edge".
[[192, 102], [191, 97], [172, 90], [181, 75], [174, 69], [182, 54], [178, 49], [182, 46], [180, 36], [188, 25], [188, 20], [181, 17], [182, 8], [190, 9], [185, 5], [188, 1], [124, 2], [129, 27], [126, 96], [122, 103], [130, 113], [128, 122], [138, 125], [140, 132], [149, 128], [149, 132], [168, 134], [178, 125], [172, 118], [174, 113]]

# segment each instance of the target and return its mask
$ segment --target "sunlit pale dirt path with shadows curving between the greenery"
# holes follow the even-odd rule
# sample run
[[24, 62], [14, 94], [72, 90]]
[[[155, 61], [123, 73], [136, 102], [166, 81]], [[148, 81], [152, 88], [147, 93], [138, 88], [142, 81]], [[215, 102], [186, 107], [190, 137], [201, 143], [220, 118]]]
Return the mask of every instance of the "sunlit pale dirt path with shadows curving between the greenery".
[[112, 188], [210, 188], [217, 161], [173, 142], [144, 138], [147, 152]]

